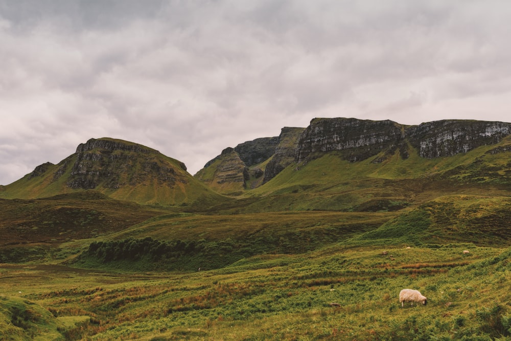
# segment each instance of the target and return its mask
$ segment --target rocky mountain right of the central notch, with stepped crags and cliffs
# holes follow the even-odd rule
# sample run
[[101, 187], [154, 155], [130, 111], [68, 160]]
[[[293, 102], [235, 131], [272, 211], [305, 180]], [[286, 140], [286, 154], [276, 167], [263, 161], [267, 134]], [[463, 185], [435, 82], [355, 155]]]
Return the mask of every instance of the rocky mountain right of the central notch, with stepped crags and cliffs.
[[[467, 153], [482, 146], [496, 145], [510, 133], [511, 123], [505, 122], [443, 120], [407, 126], [390, 120], [316, 118], [307, 128], [282, 129], [273, 153], [266, 160], [259, 159], [256, 169], [260, 176], [264, 175], [263, 180], [253, 181], [252, 186], [248, 186], [247, 180], [251, 178], [250, 174], [257, 173], [254, 168], [250, 173], [250, 168], [242, 163], [242, 156], [236, 148], [226, 149], [225, 153], [222, 152], [207, 163], [195, 176], [212, 187], [221, 184], [223, 188], [228, 188], [231, 181], [236, 181], [239, 185], [236, 189], [240, 191], [266, 184], [291, 164], [298, 170], [332, 153], [349, 163], [369, 160], [371, 163], [382, 164], [395, 155], [401, 160], [407, 160], [415, 154], [433, 160]], [[256, 141], [243, 145], [257, 146]], [[507, 147], [503, 148], [506, 150]], [[247, 148], [243, 151], [245, 155], [250, 154]], [[225, 174], [226, 169], [228, 176]], [[223, 193], [228, 194], [229, 191]]]

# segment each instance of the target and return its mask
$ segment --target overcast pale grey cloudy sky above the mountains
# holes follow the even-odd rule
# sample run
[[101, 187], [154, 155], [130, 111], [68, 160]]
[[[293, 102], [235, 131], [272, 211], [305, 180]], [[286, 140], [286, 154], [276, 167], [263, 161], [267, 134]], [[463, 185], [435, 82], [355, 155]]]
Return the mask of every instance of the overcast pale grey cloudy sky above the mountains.
[[90, 138], [191, 174], [316, 117], [510, 122], [507, 0], [0, 0], [0, 185]]

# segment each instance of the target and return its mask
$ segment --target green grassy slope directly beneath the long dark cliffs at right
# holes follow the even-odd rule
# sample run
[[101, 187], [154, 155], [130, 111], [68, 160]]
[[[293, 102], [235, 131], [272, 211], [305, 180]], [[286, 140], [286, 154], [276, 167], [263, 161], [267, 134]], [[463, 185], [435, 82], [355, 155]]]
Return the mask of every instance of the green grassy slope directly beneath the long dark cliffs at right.
[[[511, 143], [508, 139], [500, 146]], [[401, 206], [420, 204], [449, 194], [507, 195], [511, 190], [509, 152], [489, 154], [496, 146], [482, 146], [466, 154], [425, 159], [410, 148], [381, 164], [373, 158], [349, 163], [335, 152], [305, 166], [291, 165], [264, 186], [247, 192], [258, 200], [244, 212], [283, 210], [358, 210], [373, 201], [375, 209], [389, 210], [388, 201]], [[383, 204], [378, 203], [384, 199]], [[386, 207], [385, 207], [386, 206]], [[399, 205], [398, 205], [399, 206]]]

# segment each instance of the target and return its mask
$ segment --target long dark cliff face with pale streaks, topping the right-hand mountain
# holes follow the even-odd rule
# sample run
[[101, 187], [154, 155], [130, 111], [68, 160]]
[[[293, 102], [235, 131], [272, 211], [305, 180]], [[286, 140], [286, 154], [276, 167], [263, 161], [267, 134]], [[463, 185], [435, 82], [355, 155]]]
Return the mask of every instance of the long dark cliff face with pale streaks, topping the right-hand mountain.
[[425, 158], [453, 156], [496, 144], [509, 134], [511, 123], [505, 122], [443, 120], [405, 126], [388, 120], [314, 119], [298, 141], [295, 161], [307, 162], [336, 150], [351, 162], [384, 151], [373, 160], [381, 162], [398, 149], [407, 158], [408, 144]]

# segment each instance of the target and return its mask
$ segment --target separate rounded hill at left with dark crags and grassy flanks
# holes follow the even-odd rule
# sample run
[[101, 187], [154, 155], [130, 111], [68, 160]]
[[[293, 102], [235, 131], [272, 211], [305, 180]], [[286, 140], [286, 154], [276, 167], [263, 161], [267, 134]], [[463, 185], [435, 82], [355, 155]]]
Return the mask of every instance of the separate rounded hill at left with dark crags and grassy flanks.
[[35, 199], [96, 190], [144, 204], [190, 204], [219, 195], [191, 176], [182, 162], [136, 143], [90, 139], [57, 165], [44, 163], [4, 186], [2, 198]]

